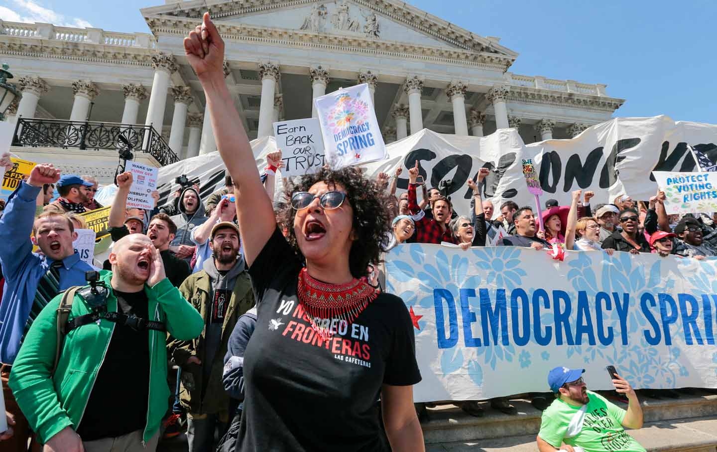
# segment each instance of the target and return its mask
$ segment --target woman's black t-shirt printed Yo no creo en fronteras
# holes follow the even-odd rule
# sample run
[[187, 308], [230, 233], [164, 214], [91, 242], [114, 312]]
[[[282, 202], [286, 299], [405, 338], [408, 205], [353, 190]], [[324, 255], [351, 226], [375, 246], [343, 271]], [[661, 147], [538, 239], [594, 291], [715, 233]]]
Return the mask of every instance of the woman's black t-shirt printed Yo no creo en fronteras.
[[375, 410], [381, 385], [421, 380], [408, 310], [381, 293], [323, 341], [298, 302], [300, 268], [277, 229], [249, 269], [258, 312], [237, 450], [386, 451]]

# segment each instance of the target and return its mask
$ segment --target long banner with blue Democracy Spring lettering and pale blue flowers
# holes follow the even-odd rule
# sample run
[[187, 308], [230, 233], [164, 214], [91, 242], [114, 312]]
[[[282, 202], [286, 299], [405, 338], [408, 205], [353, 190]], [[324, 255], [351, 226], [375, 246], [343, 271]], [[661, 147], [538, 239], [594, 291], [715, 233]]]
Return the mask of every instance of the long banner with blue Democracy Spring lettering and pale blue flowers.
[[549, 390], [556, 366], [605, 366], [635, 388], [717, 387], [717, 259], [398, 245], [386, 291], [411, 315], [423, 377], [414, 400]]

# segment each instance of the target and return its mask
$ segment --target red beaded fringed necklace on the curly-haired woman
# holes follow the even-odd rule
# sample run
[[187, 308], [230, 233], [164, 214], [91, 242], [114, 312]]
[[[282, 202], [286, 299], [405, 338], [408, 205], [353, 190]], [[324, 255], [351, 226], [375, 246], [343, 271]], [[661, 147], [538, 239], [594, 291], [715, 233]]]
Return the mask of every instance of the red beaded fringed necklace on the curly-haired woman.
[[308, 314], [311, 327], [323, 340], [333, 335], [333, 320], [351, 324], [379, 293], [379, 289], [356, 278], [346, 284], [328, 284], [312, 278], [306, 268], [299, 272], [299, 301]]

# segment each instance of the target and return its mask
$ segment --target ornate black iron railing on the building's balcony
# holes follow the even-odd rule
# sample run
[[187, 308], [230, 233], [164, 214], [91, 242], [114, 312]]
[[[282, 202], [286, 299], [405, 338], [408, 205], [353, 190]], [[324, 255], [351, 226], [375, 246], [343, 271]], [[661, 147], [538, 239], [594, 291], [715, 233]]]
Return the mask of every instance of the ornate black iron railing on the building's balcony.
[[62, 121], [60, 119], [18, 118], [12, 146], [47, 146], [63, 149], [146, 152], [161, 166], [179, 161], [164, 138], [152, 126], [100, 123], [95, 121]]

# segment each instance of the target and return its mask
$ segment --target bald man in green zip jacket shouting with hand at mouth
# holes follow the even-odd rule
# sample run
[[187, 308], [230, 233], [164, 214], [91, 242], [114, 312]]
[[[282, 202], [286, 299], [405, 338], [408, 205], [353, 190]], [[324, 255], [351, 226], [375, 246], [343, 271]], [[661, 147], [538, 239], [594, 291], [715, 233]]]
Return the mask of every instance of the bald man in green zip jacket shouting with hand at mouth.
[[57, 362], [62, 295], [35, 319], [15, 359], [10, 387], [45, 451], [156, 450], [169, 397], [166, 334], [188, 341], [204, 328], [149, 237], [123, 237], [110, 263], [94, 292], [74, 294]]

